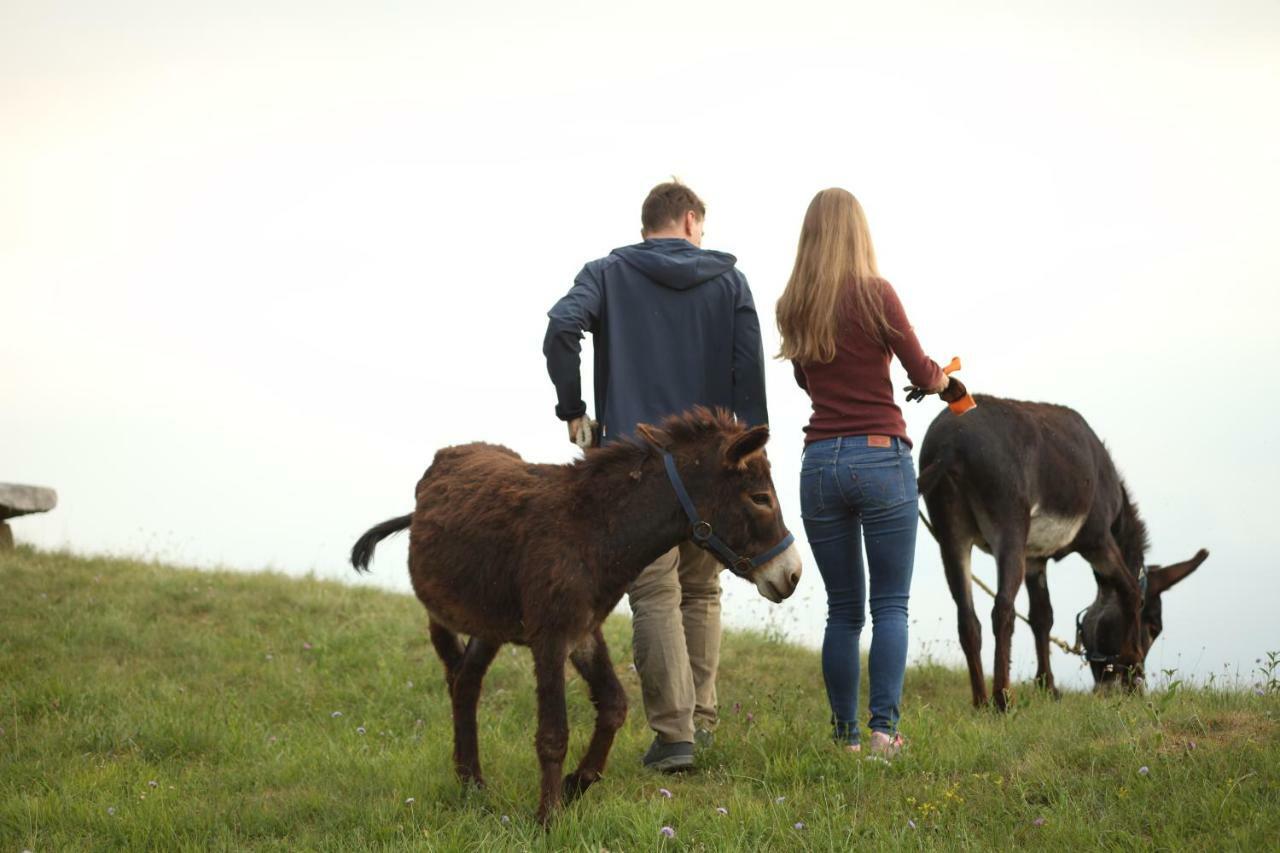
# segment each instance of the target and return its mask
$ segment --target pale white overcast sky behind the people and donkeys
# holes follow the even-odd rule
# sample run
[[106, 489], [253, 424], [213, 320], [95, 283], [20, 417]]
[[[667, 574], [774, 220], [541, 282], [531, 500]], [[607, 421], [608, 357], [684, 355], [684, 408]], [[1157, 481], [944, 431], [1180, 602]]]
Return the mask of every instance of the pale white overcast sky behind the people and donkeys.
[[[18, 538], [352, 579], [438, 447], [571, 459], [544, 315], [652, 184], [707, 199], [771, 351], [804, 207], [844, 186], [927, 350], [1084, 414], [1153, 562], [1212, 551], [1152, 663], [1247, 671], [1280, 648], [1280, 6], [1006, 6], [9, 0], [0, 479], [61, 498]], [[808, 401], [768, 382], [799, 532]], [[372, 583], [408, 588], [403, 543]], [[1070, 638], [1092, 575], [1050, 583]], [[778, 608], [726, 588], [732, 624], [820, 637], [812, 565]], [[923, 532], [913, 610], [954, 658]]]

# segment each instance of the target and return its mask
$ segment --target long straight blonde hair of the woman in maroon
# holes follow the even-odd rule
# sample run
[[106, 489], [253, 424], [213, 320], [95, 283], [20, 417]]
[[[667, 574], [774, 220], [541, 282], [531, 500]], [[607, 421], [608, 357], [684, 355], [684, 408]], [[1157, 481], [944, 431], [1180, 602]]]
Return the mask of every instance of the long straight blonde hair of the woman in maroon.
[[861, 329], [882, 346], [897, 330], [884, 316], [872, 232], [847, 190], [823, 190], [800, 227], [796, 264], [778, 300], [780, 359], [800, 364], [836, 357], [836, 328], [850, 300]]

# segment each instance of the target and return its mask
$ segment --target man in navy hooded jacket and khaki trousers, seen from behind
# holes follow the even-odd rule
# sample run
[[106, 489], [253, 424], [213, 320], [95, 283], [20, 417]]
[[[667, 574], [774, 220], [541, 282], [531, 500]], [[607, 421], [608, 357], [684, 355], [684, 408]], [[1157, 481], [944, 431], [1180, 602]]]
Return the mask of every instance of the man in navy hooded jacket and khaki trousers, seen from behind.
[[[549, 311], [543, 353], [570, 441], [589, 423], [579, 373], [584, 332], [591, 333], [595, 350], [600, 442], [695, 405], [728, 409], [749, 425], [768, 421], [751, 291], [732, 255], [701, 248], [705, 215], [689, 187], [658, 184], [640, 213], [644, 242], [589, 263]], [[645, 569], [628, 590], [644, 711], [655, 733], [646, 767], [692, 767], [695, 740], [710, 740], [719, 569], [714, 557], [686, 542]]]

